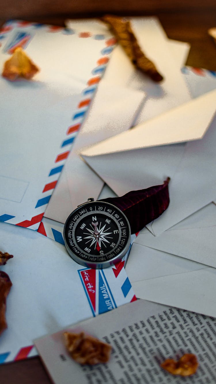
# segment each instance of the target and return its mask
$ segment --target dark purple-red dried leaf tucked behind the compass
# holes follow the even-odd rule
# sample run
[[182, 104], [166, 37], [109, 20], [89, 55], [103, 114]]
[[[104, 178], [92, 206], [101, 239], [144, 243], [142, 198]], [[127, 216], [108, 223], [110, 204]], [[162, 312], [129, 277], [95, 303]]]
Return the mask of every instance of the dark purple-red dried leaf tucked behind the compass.
[[168, 183], [126, 193], [121, 197], [108, 197], [101, 201], [115, 205], [124, 212], [130, 223], [131, 233], [137, 233], [168, 207], [170, 198]]

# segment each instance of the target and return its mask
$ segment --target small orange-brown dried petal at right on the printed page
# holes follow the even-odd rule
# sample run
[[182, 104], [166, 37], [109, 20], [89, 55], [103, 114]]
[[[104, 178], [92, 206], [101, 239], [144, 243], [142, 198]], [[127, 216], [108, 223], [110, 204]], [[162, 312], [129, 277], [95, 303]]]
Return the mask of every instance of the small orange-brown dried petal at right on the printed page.
[[167, 359], [161, 364], [161, 367], [166, 371], [180, 376], [193, 375], [198, 366], [199, 363], [193, 353], [184, 354], [178, 361]]

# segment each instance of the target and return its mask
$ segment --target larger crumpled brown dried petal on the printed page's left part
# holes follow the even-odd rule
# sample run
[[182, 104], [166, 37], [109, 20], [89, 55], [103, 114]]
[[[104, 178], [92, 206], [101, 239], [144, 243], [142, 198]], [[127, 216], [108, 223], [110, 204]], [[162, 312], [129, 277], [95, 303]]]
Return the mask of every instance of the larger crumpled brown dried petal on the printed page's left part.
[[109, 361], [112, 347], [84, 332], [64, 332], [64, 341], [71, 357], [79, 364], [94, 365]]

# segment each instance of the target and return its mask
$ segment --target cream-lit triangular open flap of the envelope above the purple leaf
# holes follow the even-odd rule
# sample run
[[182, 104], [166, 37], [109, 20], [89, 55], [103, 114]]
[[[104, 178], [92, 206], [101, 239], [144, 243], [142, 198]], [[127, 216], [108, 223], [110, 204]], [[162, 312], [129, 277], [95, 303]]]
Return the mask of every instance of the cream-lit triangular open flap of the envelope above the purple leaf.
[[216, 90], [213, 90], [129, 131], [83, 149], [81, 155], [98, 156], [201, 139], [216, 111], [215, 100]]

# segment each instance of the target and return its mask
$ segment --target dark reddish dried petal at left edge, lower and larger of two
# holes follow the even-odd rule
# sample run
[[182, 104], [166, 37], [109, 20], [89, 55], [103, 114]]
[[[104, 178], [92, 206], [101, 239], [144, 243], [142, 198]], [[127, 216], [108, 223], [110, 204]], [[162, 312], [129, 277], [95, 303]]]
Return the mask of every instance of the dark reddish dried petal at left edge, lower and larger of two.
[[10, 277], [7, 273], [0, 271], [0, 334], [5, 328], [7, 328], [7, 322], [5, 318], [6, 311], [6, 298], [12, 286]]

